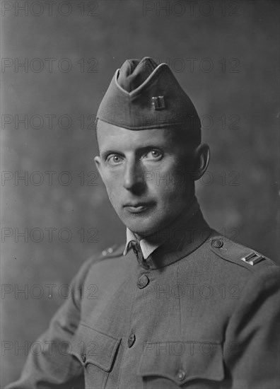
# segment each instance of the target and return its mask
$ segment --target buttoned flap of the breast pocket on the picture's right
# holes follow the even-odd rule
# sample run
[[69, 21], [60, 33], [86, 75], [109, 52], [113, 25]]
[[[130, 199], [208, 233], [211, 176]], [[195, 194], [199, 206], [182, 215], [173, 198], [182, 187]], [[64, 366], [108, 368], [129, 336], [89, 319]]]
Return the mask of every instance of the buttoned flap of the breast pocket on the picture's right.
[[[175, 343], [176, 347], [170, 347]], [[177, 385], [199, 378], [221, 381], [224, 378], [222, 345], [195, 342], [191, 347], [189, 342], [146, 342], [138, 374], [169, 378]]]

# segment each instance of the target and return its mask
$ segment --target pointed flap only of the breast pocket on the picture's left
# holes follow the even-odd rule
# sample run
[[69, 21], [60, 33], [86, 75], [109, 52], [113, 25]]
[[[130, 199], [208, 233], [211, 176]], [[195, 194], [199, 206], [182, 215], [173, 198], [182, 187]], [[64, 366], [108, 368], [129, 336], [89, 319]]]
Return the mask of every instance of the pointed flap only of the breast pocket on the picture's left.
[[94, 364], [110, 371], [120, 341], [81, 323], [71, 342], [71, 354], [84, 366]]

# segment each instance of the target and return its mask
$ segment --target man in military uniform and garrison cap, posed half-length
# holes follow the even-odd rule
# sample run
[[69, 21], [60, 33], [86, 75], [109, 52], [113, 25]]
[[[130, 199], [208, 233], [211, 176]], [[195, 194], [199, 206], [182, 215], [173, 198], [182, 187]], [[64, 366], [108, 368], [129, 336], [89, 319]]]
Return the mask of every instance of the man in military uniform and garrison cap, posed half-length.
[[[128, 60], [98, 110], [95, 157], [127, 243], [88, 260], [15, 388], [278, 388], [278, 267], [206, 223], [209, 163], [167, 64]], [[86, 291], [98, 287], [98, 298]], [[34, 349], [34, 348], [33, 348]]]

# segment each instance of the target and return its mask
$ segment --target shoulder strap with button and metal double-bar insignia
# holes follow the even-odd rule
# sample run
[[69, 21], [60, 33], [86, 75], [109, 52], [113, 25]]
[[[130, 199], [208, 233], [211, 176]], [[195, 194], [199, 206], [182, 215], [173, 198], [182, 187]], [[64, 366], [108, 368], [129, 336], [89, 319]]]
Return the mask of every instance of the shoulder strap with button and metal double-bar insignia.
[[234, 262], [247, 269], [265, 260], [272, 262], [259, 252], [240, 245], [240, 243], [233, 242], [233, 240], [225, 236], [214, 236], [214, 238], [211, 238], [210, 247], [216, 255], [224, 260]]

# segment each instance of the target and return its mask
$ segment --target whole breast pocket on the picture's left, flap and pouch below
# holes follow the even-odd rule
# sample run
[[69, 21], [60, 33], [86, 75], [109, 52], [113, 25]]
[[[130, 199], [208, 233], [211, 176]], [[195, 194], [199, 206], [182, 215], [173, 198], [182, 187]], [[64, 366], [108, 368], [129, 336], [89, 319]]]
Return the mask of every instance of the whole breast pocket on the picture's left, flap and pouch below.
[[71, 354], [83, 365], [86, 388], [103, 389], [121, 339], [80, 324], [71, 342]]

